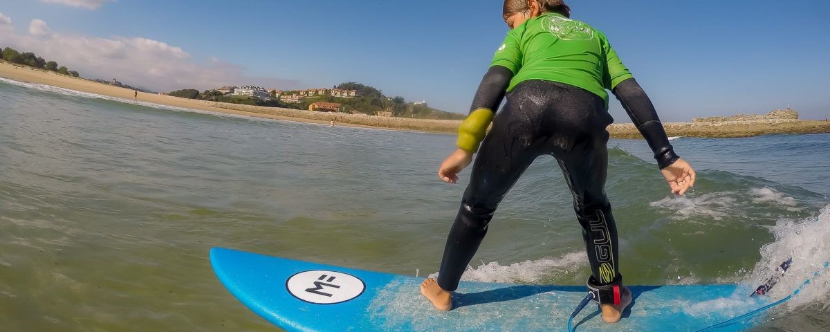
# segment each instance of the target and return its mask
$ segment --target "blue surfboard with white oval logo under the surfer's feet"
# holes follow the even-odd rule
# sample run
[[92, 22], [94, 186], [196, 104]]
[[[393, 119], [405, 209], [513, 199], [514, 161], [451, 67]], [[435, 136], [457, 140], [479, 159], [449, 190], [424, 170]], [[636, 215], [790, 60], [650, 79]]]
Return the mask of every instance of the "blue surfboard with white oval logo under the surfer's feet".
[[[461, 282], [454, 309], [443, 312], [422, 297], [422, 277], [223, 248], [213, 248], [210, 259], [228, 291], [288, 331], [567, 331], [587, 294], [584, 286]], [[759, 308], [771, 303], [735, 285], [629, 288], [634, 300], [622, 321], [608, 325], [589, 305], [574, 330], [743, 331], [764, 321]]]

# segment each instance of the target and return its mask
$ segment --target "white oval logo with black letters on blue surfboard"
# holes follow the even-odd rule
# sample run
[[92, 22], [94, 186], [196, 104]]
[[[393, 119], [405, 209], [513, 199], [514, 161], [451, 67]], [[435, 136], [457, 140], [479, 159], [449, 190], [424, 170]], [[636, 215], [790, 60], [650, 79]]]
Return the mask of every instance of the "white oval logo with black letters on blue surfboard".
[[334, 305], [360, 296], [366, 284], [356, 276], [335, 271], [305, 271], [286, 281], [286, 289], [299, 300]]

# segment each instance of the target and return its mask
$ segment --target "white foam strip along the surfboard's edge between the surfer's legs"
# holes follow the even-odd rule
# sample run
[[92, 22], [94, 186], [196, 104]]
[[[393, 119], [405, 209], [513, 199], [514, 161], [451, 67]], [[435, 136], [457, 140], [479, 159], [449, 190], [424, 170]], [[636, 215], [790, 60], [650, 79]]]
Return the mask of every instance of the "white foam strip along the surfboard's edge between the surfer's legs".
[[[536, 261], [520, 261], [501, 266], [497, 261], [481, 262], [481, 266], [467, 266], [462, 281], [538, 283], [552, 277], [564, 276], [583, 269], [588, 264], [585, 251], [571, 252], [558, 258], [543, 258]], [[432, 273], [430, 278], [437, 277]]]

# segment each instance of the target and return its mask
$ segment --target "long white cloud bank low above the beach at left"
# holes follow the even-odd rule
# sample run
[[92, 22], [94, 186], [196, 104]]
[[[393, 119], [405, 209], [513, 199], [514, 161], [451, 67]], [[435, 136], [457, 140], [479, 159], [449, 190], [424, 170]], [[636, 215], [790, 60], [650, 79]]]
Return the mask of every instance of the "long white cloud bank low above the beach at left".
[[29, 28], [32, 34], [29, 35], [0, 30], [3, 46], [32, 51], [46, 60], [79, 71], [86, 78], [116, 78], [125, 84], [159, 91], [205, 90], [222, 85], [290, 89], [298, 85], [293, 80], [247, 76], [245, 67], [216, 58], [196, 61], [181, 47], [163, 41], [61, 34], [49, 32], [46, 22], [35, 21], [32, 21]]

